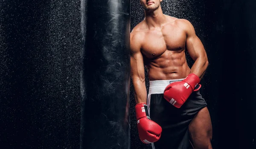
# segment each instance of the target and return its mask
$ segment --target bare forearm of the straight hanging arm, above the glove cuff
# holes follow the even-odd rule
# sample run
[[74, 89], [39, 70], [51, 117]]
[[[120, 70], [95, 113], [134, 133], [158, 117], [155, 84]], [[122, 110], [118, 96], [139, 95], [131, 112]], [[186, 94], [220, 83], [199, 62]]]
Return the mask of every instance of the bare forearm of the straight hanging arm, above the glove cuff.
[[147, 90], [145, 80], [133, 79], [134, 96], [136, 104], [147, 103]]

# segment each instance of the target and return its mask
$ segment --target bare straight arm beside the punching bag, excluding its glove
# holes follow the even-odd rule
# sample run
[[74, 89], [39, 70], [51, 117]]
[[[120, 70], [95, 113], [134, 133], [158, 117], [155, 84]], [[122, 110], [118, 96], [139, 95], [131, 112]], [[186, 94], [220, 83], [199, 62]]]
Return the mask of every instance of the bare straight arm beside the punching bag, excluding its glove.
[[136, 104], [147, 102], [143, 56], [140, 51], [140, 35], [131, 32], [131, 78], [134, 84]]

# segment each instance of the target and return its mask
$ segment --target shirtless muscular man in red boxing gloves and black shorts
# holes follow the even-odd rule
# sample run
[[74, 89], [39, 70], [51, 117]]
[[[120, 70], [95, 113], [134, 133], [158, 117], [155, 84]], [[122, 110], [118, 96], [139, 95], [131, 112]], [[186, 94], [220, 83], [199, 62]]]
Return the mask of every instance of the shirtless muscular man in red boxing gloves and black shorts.
[[[212, 149], [212, 124], [199, 93], [208, 59], [192, 24], [164, 15], [162, 0], [140, 0], [145, 19], [131, 32], [131, 77], [140, 140], [153, 149]], [[195, 61], [189, 68], [185, 50]], [[145, 87], [144, 65], [150, 80]], [[150, 117], [149, 117], [150, 116]]]

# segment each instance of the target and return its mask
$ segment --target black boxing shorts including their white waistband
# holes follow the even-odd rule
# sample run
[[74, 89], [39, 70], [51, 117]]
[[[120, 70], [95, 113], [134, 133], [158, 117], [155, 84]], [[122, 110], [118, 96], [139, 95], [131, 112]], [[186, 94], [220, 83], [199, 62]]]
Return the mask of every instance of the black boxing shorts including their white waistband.
[[199, 90], [193, 92], [180, 108], [176, 108], [166, 101], [163, 98], [166, 86], [182, 80], [149, 82], [148, 113], [151, 120], [163, 129], [159, 141], [152, 143], [152, 149], [192, 149], [188, 127], [197, 112], [206, 107], [207, 103]]

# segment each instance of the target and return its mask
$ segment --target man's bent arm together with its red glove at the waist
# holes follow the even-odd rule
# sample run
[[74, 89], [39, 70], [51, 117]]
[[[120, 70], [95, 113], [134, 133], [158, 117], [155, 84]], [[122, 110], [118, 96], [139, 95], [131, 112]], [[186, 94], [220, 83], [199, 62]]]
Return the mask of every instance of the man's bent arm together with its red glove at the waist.
[[196, 36], [192, 24], [187, 20], [180, 20], [179, 26], [186, 31], [186, 49], [195, 63], [185, 79], [169, 84], [164, 90], [163, 97], [177, 108], [180, 108], [186, 102], [208, 67], [204, 45]]

